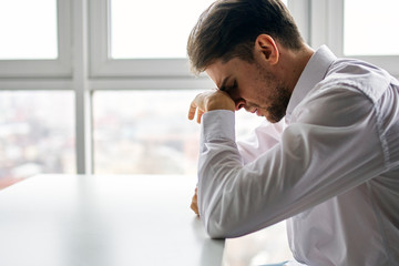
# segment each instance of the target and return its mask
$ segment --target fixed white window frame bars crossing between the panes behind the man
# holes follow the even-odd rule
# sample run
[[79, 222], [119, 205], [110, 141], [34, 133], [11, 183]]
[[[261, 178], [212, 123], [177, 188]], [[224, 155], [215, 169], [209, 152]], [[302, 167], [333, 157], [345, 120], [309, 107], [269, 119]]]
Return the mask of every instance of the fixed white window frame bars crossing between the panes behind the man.
[[[213, 88], [190, 73], [187, 59], [109, 59], [110, 0], [58, 0], [57, 60], [0, 60], [0, 90], [72, 90], [76, 172], [92, 173], [92, 94], [99, 90]], [[344, 0], [288, 0], [305, 41], [342, 57]], [[72, 19], [73, 18], [73, 19]], [[399, 76], [399, 57], [357, 57]]]

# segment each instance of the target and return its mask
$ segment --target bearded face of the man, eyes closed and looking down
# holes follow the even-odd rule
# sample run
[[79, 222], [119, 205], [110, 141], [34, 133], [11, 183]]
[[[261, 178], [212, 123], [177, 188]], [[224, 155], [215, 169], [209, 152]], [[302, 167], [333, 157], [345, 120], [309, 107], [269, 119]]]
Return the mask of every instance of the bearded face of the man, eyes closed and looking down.
[[205, 72], [219, 90], [228, 93], [236, 110], [244, 108], [272, 123], [285, 116], [290, 91], [259, 63], [248, 63], [238, 58], [227, 63], [217, 60]]

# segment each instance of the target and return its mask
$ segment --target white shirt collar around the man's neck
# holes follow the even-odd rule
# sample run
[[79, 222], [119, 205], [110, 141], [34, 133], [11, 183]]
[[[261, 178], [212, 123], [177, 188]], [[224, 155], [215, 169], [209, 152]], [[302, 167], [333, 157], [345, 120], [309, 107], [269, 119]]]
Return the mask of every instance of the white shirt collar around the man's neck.
[[317, 49], [316, 52], [311, 55], [289, 99], [286, 112], [286, 119], [288, 121], [290, 120], [290, 115], [294, 109], [317, 83], [323, 81], [329, 66], [336, 59], [336, 55], [334, 55], [334, 53], [326, 45]]

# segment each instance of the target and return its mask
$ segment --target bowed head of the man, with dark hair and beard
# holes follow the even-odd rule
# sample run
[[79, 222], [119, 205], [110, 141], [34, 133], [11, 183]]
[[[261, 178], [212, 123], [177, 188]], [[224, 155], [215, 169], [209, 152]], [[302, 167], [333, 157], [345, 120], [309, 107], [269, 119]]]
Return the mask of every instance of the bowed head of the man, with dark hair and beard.
[[187, 52], [192, 70], [205, 71], [236, 110], [278, 122], [311, 50], [279, 0], [219, 0], [201, 16]]

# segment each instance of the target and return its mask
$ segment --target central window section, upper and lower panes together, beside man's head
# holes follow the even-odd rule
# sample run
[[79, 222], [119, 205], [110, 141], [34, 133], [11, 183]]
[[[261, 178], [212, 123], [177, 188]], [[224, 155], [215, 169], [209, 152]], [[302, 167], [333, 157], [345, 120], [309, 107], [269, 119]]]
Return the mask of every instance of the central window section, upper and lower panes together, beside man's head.
[[[185, 45], [212, 2], [91, 2], [91, 74], [101, 78], [92, 88], [95, 173], [196, 173], [200, 127], [187, 108], [214, 84], [193, 79]], [[242, 121], [238, 132], [253, 120]]]

